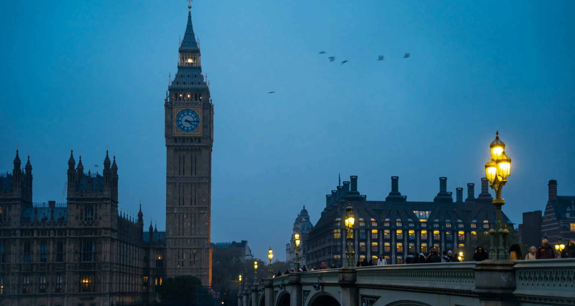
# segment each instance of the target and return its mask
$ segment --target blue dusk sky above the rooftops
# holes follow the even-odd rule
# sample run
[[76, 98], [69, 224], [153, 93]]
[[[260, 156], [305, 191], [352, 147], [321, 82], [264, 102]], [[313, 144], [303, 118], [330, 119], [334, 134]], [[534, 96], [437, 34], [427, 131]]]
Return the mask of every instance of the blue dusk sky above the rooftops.
[[[393, 175], [408, 200], [431, 201], [440, 176], [454, 193], [476, 183], [477, 196], [496, 130], [513, 160], [513, 222], [545, 210], [551, 178], [575, 195], [574, 9], [194, 1], [215, 108], [212, 242], [246, 239], [256, 257], [271, 246], [285, 260], [297, 212], [315, 223], [338, 173], [358, 175], [368, 200]], [[145, 227], [163, 230], [163, 103], [186, 17], [186, 1], [4, 2], [0, 169], [17, 144], [30, 150], [34, 202], [60, 202], [70, 146], [101, 171], [109, 144], [120, 206], [135, 214], [141, 200]]]

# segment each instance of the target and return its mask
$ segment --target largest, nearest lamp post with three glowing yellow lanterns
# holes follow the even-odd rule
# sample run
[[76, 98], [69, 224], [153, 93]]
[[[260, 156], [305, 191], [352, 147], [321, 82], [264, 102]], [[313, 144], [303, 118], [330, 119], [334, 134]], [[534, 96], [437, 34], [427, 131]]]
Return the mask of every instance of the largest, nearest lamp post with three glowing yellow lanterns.
[[511, 174], [511, 158], [505, 155], [505, 144], [499, 140], [499, 131], [495, 134], [495, 140], [489, 145], [491, 159], [485, 164], [486, 178], [489, 181], [489, 186], [495, 191], [493, 205], [495, 206], [497, 219], [495, 229], [492, 225], [491, 230], [489, 230], [492, 235], [489, 255], [491, 259], [509, 259], [507, 246], [504, 245], [505, 234], [509, 233], [509, 230], [507, 230], [507, 225], [504, 228], [503, 224], [501, 224], [501, 206], [505, 204], [505, 200], [501, 199], [501, 189], [507, 183], [507, 177]]

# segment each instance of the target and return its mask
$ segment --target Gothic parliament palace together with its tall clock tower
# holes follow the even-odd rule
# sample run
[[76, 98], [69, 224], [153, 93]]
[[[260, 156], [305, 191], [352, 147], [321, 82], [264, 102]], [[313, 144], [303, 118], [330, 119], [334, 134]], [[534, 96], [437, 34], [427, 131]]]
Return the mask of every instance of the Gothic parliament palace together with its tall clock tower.
[[141, 206], [137, 218], [118, 211], [121, 165], [108, 151], [102, 173], [70, 152], [66, 203], [34, 203], [30, 156], [16, 151], [0, 173], [0, 306], [154, 305], [168, 277], [210, 285], [213, 104], [191, 6], [164, 110], [165, 233], [145, 228]]

